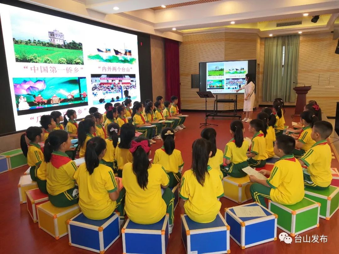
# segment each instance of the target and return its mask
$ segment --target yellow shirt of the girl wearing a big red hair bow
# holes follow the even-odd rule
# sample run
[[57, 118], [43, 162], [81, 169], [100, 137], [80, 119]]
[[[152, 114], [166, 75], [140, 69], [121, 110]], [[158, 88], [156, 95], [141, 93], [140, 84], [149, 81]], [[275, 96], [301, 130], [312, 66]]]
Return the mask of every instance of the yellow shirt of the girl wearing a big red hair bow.
[[123, 168], [122, 184], [126, 189], [125, 210], [129, 219], [138, 224], [153, 224], [166, 214], [166, 204], [162, 199], [161, 185], [169, 184], [165, 169], [159, 164], [151, 164], [148, 171], [148, 183], [140, 188], [133, 172], [132, 163]]

